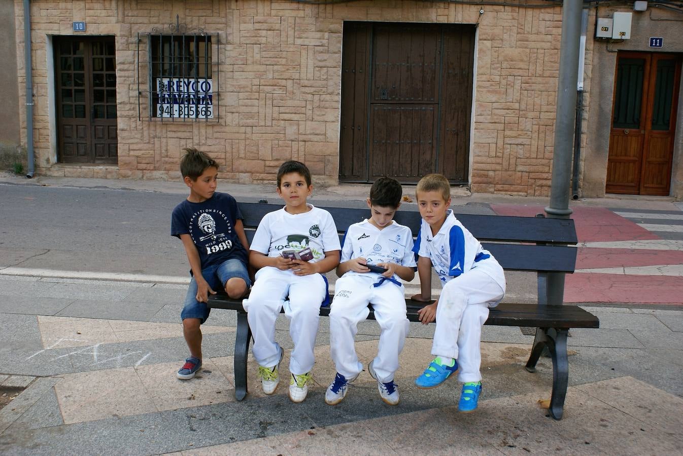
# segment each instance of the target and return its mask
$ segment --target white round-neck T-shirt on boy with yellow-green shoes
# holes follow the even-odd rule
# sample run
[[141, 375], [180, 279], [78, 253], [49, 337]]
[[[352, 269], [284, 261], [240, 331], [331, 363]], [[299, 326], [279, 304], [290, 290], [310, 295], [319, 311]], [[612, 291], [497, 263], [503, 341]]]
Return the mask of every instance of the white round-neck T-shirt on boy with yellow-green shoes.
[[325, 258], [324, 252], [341, 249], [332, 215], [312, 204], [307, 206], [311, 210], [302, 214], [290, 214], [282, 208], [264, 215], [251, 241], [251, 249], [275, 257], [283, 249], [298, 252], [311, 247], [311, 262]]

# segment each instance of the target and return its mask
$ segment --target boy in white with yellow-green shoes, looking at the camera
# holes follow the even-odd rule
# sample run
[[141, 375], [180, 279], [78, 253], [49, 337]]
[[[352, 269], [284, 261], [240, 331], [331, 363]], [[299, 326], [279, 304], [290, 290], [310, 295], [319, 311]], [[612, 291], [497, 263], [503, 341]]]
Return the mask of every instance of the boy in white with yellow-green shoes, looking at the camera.
[[266, 214], [251, 243], [249, 261], [258, 269], [254, 286], [242, 306], [253, 334], [253, 356], [259, 365], [264, 393], [275, 393], [283, 349], [275, 341], [280, 309], [290, 319], [294, 350], [290, 356], [292, 402], [308, 393], [315, 358], [320, 305], [328, 299], [324, 273], [339, 264], [339, 237], [332, 215], [306, 202], [311, 173], [290, 160], [277, 172], [277, 193], [285, 207]]

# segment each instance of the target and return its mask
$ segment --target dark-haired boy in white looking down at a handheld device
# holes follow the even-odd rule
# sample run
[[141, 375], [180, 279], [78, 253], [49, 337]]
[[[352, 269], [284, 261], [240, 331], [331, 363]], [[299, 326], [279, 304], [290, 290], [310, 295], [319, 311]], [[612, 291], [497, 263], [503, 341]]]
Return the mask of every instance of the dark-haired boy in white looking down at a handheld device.
[[363, 370], [354, 337], [358, 323], [370, 313], [368, 303], [381, 333], [377, 356], [367, 371], [377, 380], [382, 400], [392, 406], [398, 404], [393, 376], [409, 329], [404, 286], [398, 279], [410, 282], [416, 269], [410, 228], [393, 221], [402, 193], [395, 179], [377, 179], [367, 198], [370, 218], [349, 226], [344, 236], [342, 262], [337, 267], [341, 278], [335, 284], [330, 311], [330, 350], [337, 374], [325, 392], [329, 405], [344, 399], [348, 384]]

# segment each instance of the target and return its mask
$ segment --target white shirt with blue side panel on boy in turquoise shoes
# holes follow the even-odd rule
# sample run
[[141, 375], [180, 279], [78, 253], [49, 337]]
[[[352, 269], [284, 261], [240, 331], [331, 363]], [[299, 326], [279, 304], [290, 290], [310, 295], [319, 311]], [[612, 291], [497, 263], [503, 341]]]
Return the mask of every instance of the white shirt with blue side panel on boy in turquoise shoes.
[[[445, 284], [454, 277], [476, 267], [482, 267], [497, 282], [505, 284], [505, 277], [499, 277], [499, 268], [486, 267], [495, 258], [482, 247], [482, 244], [456, 219], [453, 211], [447, 212], [446, 219], [436, 235], [432, 236], [432, 228], [422, 220], [420, 232], [415, 241], [413, 252], [432, 260], [434, 271]], [[502, 270], [501, 270], [502, 271]]]

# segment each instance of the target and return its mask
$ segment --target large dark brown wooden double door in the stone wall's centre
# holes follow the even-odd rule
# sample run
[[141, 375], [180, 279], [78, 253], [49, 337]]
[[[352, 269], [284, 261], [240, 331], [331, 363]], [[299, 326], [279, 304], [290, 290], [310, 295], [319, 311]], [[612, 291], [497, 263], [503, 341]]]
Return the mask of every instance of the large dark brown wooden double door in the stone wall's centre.
[[344, 22], [339, 180], [469, 181], [475, 27]]

